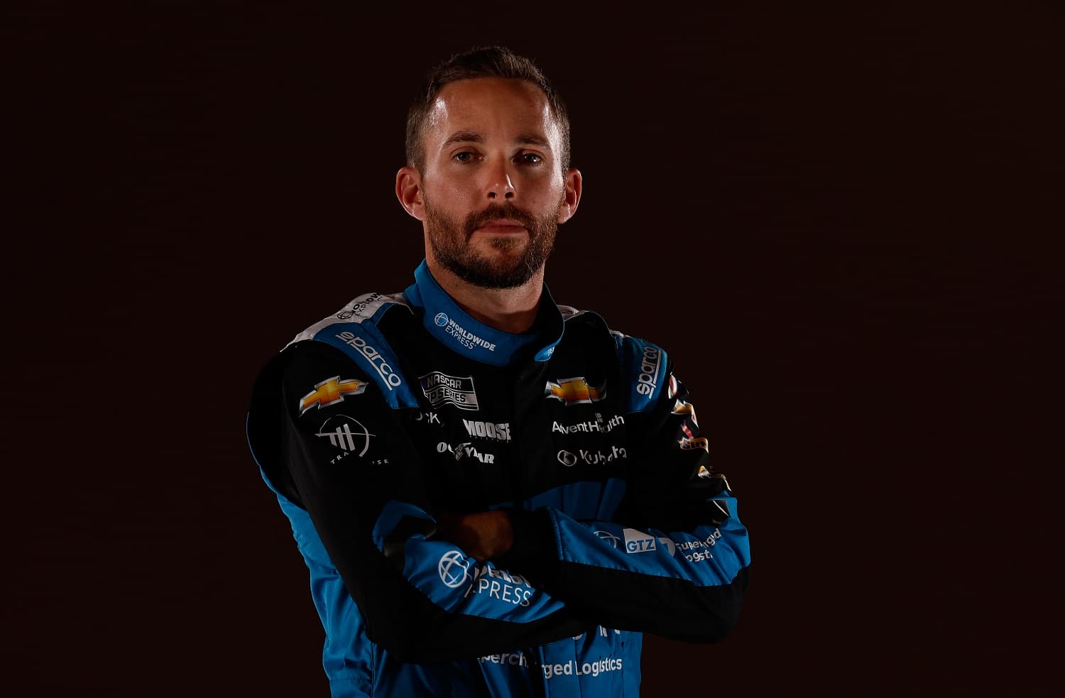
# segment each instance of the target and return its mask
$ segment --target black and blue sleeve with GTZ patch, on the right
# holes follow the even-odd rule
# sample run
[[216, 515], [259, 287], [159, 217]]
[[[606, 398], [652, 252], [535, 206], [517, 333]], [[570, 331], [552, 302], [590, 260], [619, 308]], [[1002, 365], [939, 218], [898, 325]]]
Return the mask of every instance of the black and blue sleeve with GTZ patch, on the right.
[[717, 642], [735, 628], [747, 591], [748, 532], [688, 392], [667, 367], [656, 401], [626, 416], [635, 457], [611, 520], [515, 512], [515, 542], [499, 564], [608, 628]]

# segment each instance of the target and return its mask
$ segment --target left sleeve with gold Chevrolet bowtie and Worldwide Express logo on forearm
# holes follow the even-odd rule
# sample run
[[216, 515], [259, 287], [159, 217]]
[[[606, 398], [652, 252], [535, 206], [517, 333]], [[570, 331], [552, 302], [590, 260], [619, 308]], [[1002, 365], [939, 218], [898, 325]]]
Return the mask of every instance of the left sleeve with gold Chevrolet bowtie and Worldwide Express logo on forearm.
[[521, 575], [431, 539], [431, 483], [381, 391], [348, 357], [314, 342], [286, 363], [278, 395], [298, 505], [358, 604], [367, 636], [402, 661], [430, 663], [587, 629], [590, 622]]

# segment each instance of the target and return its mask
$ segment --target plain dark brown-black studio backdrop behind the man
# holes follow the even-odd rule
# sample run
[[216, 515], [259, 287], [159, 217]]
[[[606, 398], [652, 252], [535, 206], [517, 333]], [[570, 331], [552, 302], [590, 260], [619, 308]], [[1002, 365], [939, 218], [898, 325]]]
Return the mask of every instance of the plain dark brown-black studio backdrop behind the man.
[[5, 676], [326, 695], [249, 388], [410, 282], [406, 107], [499, 43], [571, 110], [556, 299], [673, 355], [751, 530], [739, 628], [649, 637], [645, 695], [1049, 693], [1049, 6], [4, 11]]

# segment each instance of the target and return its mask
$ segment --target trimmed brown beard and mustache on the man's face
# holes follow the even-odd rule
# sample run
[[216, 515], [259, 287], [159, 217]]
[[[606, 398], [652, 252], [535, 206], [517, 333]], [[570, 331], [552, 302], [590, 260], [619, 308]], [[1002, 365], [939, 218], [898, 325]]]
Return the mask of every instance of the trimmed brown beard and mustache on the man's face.
[[[555, 246], [558, 231], [558, 206], [543, 216], [537, 217], [519, 209], [509, 201], [492, 204], [482, 211], [476, 211], [457, 221], [425, 204], [425, 223], [428, 229], [429, 246], [437, 261], [463, 281], [484, 289], [512, 289], [522, 286], [543, 266]], [[474, 231], [491, 221], [510, 218], [520, 223], [528, 231], [527, 241], [520, 237], [498, 237], [491, 239], [491, 245], [502, 255], [494, 259], [481, 256], [470, 246]], [[525, 249], [517, 251], [522, 245]]]

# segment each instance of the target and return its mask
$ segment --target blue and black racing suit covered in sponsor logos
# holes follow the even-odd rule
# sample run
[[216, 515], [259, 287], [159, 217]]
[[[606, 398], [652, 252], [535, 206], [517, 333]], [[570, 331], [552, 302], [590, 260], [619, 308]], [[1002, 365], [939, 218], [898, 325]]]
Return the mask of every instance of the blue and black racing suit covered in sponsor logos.
[[[642, 632], [715, 642], [750, 548], [663, 350], [556, 306], [504, 332], [423, 261], [260, 373], [248, 441], [310, 570], [333, 696], [636, 696]], [[435, 515], [505, 509], [484, 564]]]

